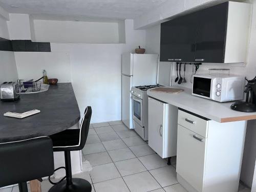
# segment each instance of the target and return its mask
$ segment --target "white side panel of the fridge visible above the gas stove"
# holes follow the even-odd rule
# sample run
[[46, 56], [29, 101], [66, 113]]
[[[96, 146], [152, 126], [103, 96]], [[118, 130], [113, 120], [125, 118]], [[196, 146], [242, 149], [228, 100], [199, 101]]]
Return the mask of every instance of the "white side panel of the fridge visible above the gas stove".
[[134, 54], [133, 76], [134, 86], [157, 83], [157, 54]]

